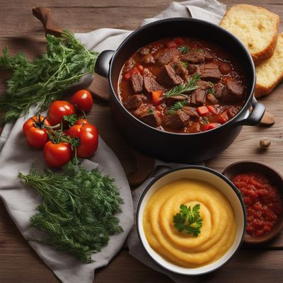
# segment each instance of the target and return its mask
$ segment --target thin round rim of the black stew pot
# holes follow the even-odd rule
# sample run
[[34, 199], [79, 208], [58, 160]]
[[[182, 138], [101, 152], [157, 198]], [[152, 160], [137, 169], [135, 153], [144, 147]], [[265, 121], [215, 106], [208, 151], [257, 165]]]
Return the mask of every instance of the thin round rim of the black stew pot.
[[[111, 74], [112, 74], [113, 62], [115, 62], [117, 54], [123, 49], [123, 47], [125, 45], [127, 45], [128, 40], [132, 39], [132, 37], [137, 36], [141, 31], [146, 30], [148, 28], [151, 28], [154, 25], [158, 25], [158, 24], [162, 24], [162, 23], [168, 23], [168, 22], [178, 22], [178, 21], [187, 21], [187, 22], [199, 23], [201, 25], [210, 25], [213, 28], [216, 28], [219, 31], [221, 31], [222, 33], [226, 34], [227, 37], [231, 37], [236, 42], [236, 44], [238, 44], [241, 47], [243, 52], [246, 53], [246, 56], [247, 56], [248, 61], [250, 62], [250, 67], [251, 67], [251, 71], [252, 71], [252, 74], [253, 74], [253, 81], [252, 81], [252, 86], [251, 86], [250, 94], [247, 96], [246, 103], [243, 105], [241, 110], [231, 120], [229, 120], [228, 122], [224, 123], [223, 125], [220, 125], [219, 127], [214, 128], [214, 129], [209, 129], [209, 130], [207, 130], [205, 132], [197, 132], [197, 133], [168, 132], [168, 131], [162, 131], [161, 129], [156, 129], [155, 127], [151, 127], [151, 126], [147, 125], [146, 123], [144, 123], [141, 120], [137, 119], [137, 117], [134, 117], [134, 115], [132, 115], [124, 107], [124, 105], [122, 105], [122, 102], [118, 98], [118, 96], [116, 94], [116, 91], [115, 91], [115, 89], [113, 87], [113, 84], [112, 84], [112, 76], [111, 76]], [[114, 97], [115, 103], [118, 105], [118, 107], [120, 109], [122, 109], [124, 112], [127, 113], [126, 115], [130, 119], [134, 120], [136, 123], [139, 123], [139, 125], [141, 125], [141, 127], [144, 127], [148, 131], [156, 132], [156, 133], [159, 132], [160, 134], [165, 134], [165, 135], [187, 136], [187, 137], [190, 136], [190, 137], [192, 137], [192, 136], [197, 136], [197, 135], [200, 135], [200, 134], [209, 134], [212, 131], [220, 132], [222, 129], [225, 129], [225, 128], [229, 127], [229, 126], [232, 126], [233, 122], [236, 122], [238, 117], [246, 115], [247, 111], [250, 108], [250, 104], [252, 103], [252, 100], [254, 98], [253, 94], [254, 94], [254, 91], [255, 91], [255, 65], [253, 64], [253, 59], [250, 56], [250, 53], [248, 52], [246, 47], [243, 45], [243, 43], [240, 40], [238, 40], [238, 38], [235, 35], [233, 35], [232, 33], [229, 33], [229, 31], [227, 31], [227, 30], [224, 30], [224, 28], [221, 28], [219, 25], [216, 25], [214, 23], [209, 23], [208, 21], [203, 21], [203, 20], [200, 20], [200, 19], [197, 19], [197, 18], [181, 18], [181, 17], [179, 17], [179, 18], [166, 18], [166, 19], [163, 19], [163, 20], [160, 20], [160, 21], [154, 21], [152, 23], [148, 23], [146, 25], [143, 25], [141, 28], [138, 28], [137, 30], [134, 30], [134, 32], [132, 32], [130, 35], [128, 35], [125, 38], [125, 40], [122, 41], [122, 43], [119, 45], [117, 50], [114, 52], [114, 54], [112, 56], [112, 59], [110, 61], [110, 68], [108, 70], [108, 82], [109, 82], [109, 85], [110, 85], [110, 96]]]

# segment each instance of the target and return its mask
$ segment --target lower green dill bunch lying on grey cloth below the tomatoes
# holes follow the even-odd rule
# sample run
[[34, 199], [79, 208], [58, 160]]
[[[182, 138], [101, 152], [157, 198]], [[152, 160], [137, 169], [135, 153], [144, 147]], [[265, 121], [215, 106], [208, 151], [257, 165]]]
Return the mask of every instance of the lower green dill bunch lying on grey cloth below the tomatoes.
[[31, 168], [28, 175], [18, 174], [23, 183], [35, 189], [41, 203], [30, 218], [30, 226], [47, 234], [29, 241], [48, 244], [92, 262], [91, 254], [108, 245], [110, 235], [122, 232], [121, 204], [114, 180], [98, 169], [88, 170], [71, 163], [62, 173]]

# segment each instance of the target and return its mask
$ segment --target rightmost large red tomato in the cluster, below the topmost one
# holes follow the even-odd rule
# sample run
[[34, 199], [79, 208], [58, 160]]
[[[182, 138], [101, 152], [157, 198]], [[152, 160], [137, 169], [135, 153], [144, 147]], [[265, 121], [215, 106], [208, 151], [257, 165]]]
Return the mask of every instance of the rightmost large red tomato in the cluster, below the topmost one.
[[76, 147], [78, 157], [90, 157], [98, 149], [98, 129], [94, 125], [74, 125], [69, 128], [69, 135], [80, 139], [80, 145]]

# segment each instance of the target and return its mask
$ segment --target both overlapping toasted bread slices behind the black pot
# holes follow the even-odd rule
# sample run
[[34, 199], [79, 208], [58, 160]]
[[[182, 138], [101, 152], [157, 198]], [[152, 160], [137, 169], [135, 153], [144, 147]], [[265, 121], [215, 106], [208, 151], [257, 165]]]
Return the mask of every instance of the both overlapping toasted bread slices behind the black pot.
[[283, 79], [283, 34], [279, 16], [265, 8], [238, 4], [226, 12], [222, 28], [236, 35], [253, 57], [256, 69], [255, 97], [265, 96]]

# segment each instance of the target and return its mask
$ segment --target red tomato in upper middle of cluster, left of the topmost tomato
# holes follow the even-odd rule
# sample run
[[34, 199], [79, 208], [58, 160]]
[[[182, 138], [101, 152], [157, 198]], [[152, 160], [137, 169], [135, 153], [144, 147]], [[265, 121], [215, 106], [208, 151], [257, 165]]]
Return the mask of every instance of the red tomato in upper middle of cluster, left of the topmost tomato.
[[63, 116], [76, 113], [74, 105], [65, 100], [57, 100], [51, 103], [49, 108], [49, 120], [51, 125], [57, 125], [62, 121]]

